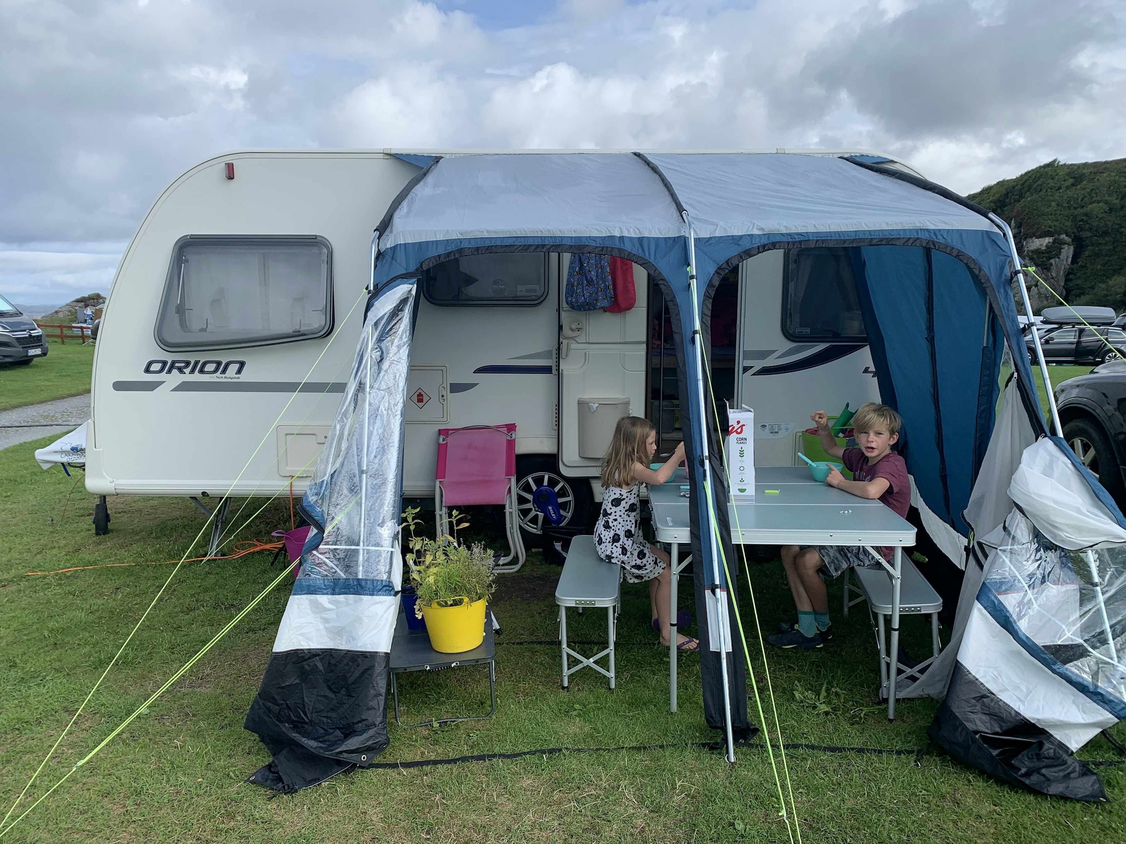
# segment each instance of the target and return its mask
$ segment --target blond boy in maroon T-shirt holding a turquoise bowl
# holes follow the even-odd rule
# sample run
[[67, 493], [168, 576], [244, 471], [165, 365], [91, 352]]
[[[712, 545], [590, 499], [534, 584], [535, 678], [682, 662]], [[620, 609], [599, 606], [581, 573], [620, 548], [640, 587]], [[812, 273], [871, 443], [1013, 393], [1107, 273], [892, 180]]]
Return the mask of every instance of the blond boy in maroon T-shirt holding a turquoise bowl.
[[[883, 404], [869, 402], [863, 405], [852, 417], [859, 448], [837, 445], [824, 411], [811, 414], [810, 419], [817, 425], [825, 454], [839, 458], [854, 477], [847, 481], [832, 468], [825, 483], [861, 499], [879, 499], [884, 505], [906, 518], [911, 506], [908, 466], [902, 457], [892, 451], [903, 424], [900, 414]], [[884, 559], [892, 558], [891, 548], [876, 550]], [[833, 638], [833, 628], [829, 622], [829, 596], [820, 569], [835, 577], [850, 566], [867, 566], [875, 560], [859, 546], [786, 545], [781, 548], [781, 562], [797, 605], [797, 621], [779, 625], [781, 632], [768, 637], [767, 641], [779, 648], [820, 648]]]

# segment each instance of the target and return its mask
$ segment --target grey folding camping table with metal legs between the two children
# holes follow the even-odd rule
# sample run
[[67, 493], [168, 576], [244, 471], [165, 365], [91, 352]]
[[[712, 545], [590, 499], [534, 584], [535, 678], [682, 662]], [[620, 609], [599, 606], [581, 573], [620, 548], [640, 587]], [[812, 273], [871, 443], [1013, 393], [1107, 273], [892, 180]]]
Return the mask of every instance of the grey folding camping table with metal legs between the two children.
[[[913, 546], [915, 529], [879, 501], [860, 499], [817, 483], [804, 466], [760, 466], [754, 469], [754, 503], [727, 505], [731, 541], [735, 545], [861, 545], [892, 546], [895, 554], [884, 563], [891, 576], [890, 653], [899, 653], [900, 585], [903, 547]], [[664, 484], [649, 487], [656, 540], [671, 547], [671, 618], [677, 617], [677, 585], [691, 557], [680, 559], [680, 546], [691, 541], [683, 469]], [[771, 492], [767, 492], [767, 491]], [[878, 556], [878, 555], [877, 555]], [[733, 563], [733, 560], [732, 560]], [[895, 679], [888, 677], [887, 717], [895, 718]], [[677, 711], [676, 636], [669, 641], [669, 709]]]

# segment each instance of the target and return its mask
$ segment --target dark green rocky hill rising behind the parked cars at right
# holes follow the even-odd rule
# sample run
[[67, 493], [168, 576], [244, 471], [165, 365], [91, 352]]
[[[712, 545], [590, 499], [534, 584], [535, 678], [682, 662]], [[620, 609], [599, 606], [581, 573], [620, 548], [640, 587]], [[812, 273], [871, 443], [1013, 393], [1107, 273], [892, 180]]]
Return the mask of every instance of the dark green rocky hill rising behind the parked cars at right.
[[[1126, 159], [1049, 161], [967, 198], [1012, 226], [1021, 258], [1070, 304], [1126, 311]], [[1034, 311], [1060, 304], [1036, 288]]]

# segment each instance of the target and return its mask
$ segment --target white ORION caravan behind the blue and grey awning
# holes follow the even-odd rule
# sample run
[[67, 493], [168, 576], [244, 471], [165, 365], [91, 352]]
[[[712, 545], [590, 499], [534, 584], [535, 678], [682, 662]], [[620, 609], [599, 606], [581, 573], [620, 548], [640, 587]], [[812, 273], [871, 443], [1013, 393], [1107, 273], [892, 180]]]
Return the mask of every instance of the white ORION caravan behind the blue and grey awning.
[[[373, 228], [431, 158], [238, 152], [169, 186], [106, 306], [87, 488], [303, 493], [348, 380]], [[439, 429], [515, 422], [529, 545], [544, 524], [537, 486], [556, 491], [564, 526], [596, 512], [605, 443], [584, 413], [645, 415], [662, 451], [682, 437], [673, 318], [660, 286], [634, 264], [632, 308], [572, 309], [570, 260], [455, 258], [426, 271], [415, 313], [403, 494], [434, 495]], [[812, 410], [878, 398], [856, 296], [847, 250], [831, 246], [765, 252], [723, 277], [712, 303], [713, 378], [717, 397], [757, 410], [760, 463], [795, 461]]]

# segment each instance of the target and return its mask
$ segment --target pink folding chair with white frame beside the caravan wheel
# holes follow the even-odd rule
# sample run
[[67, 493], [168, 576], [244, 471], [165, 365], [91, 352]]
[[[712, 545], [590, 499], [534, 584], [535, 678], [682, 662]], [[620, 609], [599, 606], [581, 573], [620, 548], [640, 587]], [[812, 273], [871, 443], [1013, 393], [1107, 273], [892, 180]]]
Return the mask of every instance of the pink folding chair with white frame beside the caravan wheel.
[[[493, 571], [515, 572], [524, 565], [524, 541], [516, 510], [516, 423], [443, 428], [438, 431], [438, 470], [434, 502], [438, 538], [449, 536], [449, 508], [503, 504], [510, 554]], [[516, 559], [516, 563], [510, 560]]]

